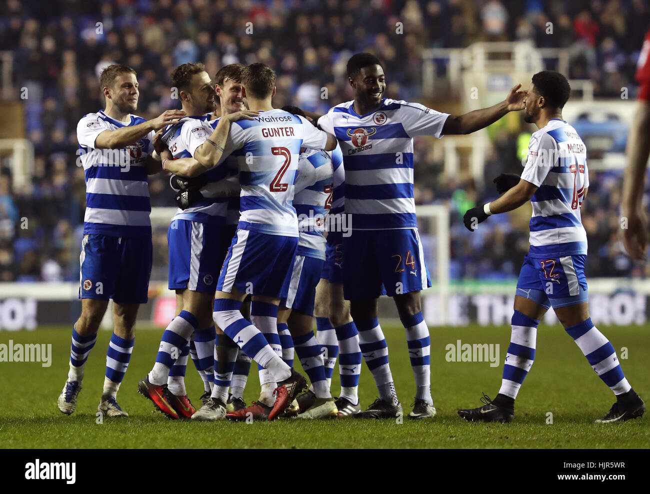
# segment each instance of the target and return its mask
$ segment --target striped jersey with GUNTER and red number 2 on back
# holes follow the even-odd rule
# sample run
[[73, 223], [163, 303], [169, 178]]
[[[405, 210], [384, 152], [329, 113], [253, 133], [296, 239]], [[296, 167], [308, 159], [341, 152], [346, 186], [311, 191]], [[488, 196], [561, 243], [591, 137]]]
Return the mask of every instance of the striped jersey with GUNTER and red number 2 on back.
[[241, 185], [241, 229], [298, 237], [292, 206], [300, 148], [322, 149], [327, 134], [309, 120], [279, 109], [260, 112], [255, 120], [233, 122], [224, 155], [237, 157]]

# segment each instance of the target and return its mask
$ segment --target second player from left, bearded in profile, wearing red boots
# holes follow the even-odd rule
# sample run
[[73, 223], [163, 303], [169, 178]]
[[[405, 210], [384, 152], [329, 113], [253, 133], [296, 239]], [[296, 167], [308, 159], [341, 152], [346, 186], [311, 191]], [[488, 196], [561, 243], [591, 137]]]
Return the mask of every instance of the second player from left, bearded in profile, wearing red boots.
[[[172, 85], [179, 91], [183, 110], [189, 116], [165, 129], [162, 142], [174, 157], [192, 156], [207, 138], [202, 122], [214, 110], [214, 88], [200, 63], [175, 68]], [[227, 195], [239, 191], [237, 184], [227, 180], [228, 175], [224, 168], [192, 181], [172, 177], [172, 185], [181, 192], [177, 197], [180, 207], [167, 234], [169, 289], [176, 292], [177, 316], [162, 334], [153, 369], [138, 384], [138, 392], [174, 419], [179, 415], [190, 418], [196, 412], [183, 380], [190, 338], [207, 393], [214, 379], [212, 304], [222, 263], [215, 253], [223, 243], [220, 228], [226, 224]], [[183, 194], [194, 194], [196, 198], [190, 200]], [[174, 365], [177, 360], [179, 364]]]

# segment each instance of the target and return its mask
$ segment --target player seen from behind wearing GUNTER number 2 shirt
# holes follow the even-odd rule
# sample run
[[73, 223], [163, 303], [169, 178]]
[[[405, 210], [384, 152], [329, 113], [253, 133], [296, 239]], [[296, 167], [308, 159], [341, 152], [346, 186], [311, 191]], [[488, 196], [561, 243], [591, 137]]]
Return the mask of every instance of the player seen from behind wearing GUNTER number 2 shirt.
[[[221, 118], [206, 141], [211, 147], [194, 156], [198, 163], [170, 163], [174, 172], [193, 177], [218, 168], [231, 153], [237, 155], [241, 216], [219, 276], [213, 318], [278, 383], [269, 420], [284, 411], [306, 385], [305, 378], [282, 361], [281, 346], [268, 337], [277, 335], [278, 304], [287, 296], [298, 246], [298, 218], [290, 202], [298, 153], [300, 147], [336, 147], [334, 136], [318, 131], [305, 118], [274, 109], [271, 99], [275, 90], [275, 73], [268, 66], [257, 63], [244, 68], [242, 96], [259, 114], [248, 112], [250, 122], [233, 123], [227, 117]], [[220, 144], [224, 136], [225, 148]], [[253, 312], [261, 316], [254, 324], [239, 312], [247, 292], [252, 294], [251, 317]], [[259, 312], [253, 311], [253, 304], [258, 305]], [[225, 404], [218, 398], [222, 393], [223, 387], [215, 385], [211, 400], [196, 415], [205, 420], [224, 417]], [[270, 400], [266, 404], [271, 406]]]

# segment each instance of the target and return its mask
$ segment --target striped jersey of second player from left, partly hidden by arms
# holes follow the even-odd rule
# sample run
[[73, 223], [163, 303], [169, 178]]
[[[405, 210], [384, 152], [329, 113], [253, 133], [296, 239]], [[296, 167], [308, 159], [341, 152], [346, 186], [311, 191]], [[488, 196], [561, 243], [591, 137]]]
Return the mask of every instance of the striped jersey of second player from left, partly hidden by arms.
[[[162, 140], [172, 152], [174, 158], [194, 157], [196, 148], [201, 146], [212, 133], [211, 127], [205, 125], [207, 116], [186, 117], [179, 123], [166, 128]], [[203, 175], [207, 183], [200, 188], [203, 199], [187, 209], [177, 209], [174, 220], [210, 222], [222, 226], [226, 224], [229, 196], [239, 194], [239, 184], [228, 179], [232, 174], [228, 168], [213, 168]]]

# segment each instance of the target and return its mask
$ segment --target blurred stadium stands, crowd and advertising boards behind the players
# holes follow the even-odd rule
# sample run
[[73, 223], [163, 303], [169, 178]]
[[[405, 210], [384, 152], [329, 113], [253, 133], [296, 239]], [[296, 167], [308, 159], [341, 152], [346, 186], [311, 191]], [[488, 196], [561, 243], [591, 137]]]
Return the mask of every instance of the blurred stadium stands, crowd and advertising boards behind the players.
[[[588, 147], [590, 190], [582, 218], [594, 320], [642, 324], [645, 266], [625, 255], [619, 205], [625, 143], [638, 85], [636, 63], [650, 27], [647, 1], [47, 1], [1, 2], [0, 328], [67, 324], [77, 317], [85, 183], [76, 124], [103, 109], [98, 75], [135, 68], [137, 114], [180, 108], [170, 73], [204, 62], [265, 62], [278, 74], [274, 105], [326, 112], [352, 99], [345, 64], [382, 59], [385, 97], [451, 113], [496, 103], [533, 73], [559, 70], [573, 92], [564, 117]], [[515, 279], [528, 250], [527, 205], [490, 218], [474, 234], [463, 213], [495, 198], [493, 177], [521, 172], [530, 133], [508, 114], [471, 136], [415, 139], [415, 201], [434, 289], [432, 324], [508, 324]], [[154, 267], [140, 317], [166, 325], [166, 229], [174, 196], [150, 177]], [[172, 208], [172, 209], [161, 209]], [[441, 250], [442, 249], [442, 250]], [[43, 284], [42, 282], [49, 282]], [[14, 285], [16, 283], [16, 285]], [[392, 304], [385, 315], [394, 315]], [[549, 322], [553, 319], [549, 315]]]

